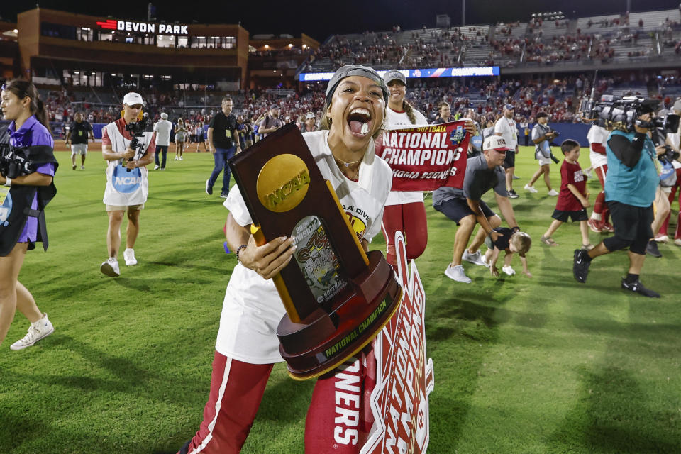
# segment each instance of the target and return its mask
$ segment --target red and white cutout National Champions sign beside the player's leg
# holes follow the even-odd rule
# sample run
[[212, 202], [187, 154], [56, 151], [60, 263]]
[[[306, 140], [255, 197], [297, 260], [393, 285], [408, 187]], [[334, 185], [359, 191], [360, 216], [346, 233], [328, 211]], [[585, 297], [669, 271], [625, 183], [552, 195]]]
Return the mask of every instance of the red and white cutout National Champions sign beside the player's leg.
[[370, 405], [375, 431], [360, 454], [421, 454], [428, 448], [428, 394], [435, 380], [433, 360], [426, 357], [426, 293], [413, 261], [409, 275], [399, 231], [395, 248], [402, 305], [374, 343], [376, 386]]

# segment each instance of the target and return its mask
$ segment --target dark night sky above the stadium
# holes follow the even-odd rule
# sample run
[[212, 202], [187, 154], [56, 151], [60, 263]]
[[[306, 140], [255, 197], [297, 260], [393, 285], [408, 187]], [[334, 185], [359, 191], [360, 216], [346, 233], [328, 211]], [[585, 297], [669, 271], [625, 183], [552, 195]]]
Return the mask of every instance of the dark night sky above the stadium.
[[[676, 0], [630, 0], [631, 11], [677, 8]], [[158, 21], [180, 23], [238, 23], [257, 33], [300, 33], [323, 41], [333, 33], [356, 33], [365, 30], [386, 31], [399, 25], [403, 29], [435, 26], [436, 14], [448, 14], [452, 25], [461, 23], [461, 0], [326, 0], [326, 1], [206, 1], [153, 2]], [[116, 5], [116, 9], [114, 9]], [[527, 21], [529, 14], [543, 11], [563, 11], [568, 17], [598, 16], [624, 12], [626, 0], [467, 0], [466, 23], [496, 23], [497, 21]], [[40, 1], [43, 8], [112, 16], [145, 21], [146, 1]], [[0, 9], [5, 20], [16, 20], [16, 14], [31, 9], [27, 1], [6, 1]]]

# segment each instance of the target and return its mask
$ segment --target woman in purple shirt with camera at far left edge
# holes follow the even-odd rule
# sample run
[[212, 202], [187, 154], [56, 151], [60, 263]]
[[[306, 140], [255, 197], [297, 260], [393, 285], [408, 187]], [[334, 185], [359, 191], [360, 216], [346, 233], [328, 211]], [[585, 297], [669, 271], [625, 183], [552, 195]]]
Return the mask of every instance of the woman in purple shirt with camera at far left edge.
[[[40, 241], [48, 247], [43, 209], [55, 195], [57, 170], [47, 113], [31, 82], [15, 79], [2, 87], [0, 108], [9, 128], [0, 133], [0, 343], [16, 309], [31, 321], [24, 338], [12, 350], [30, 347], [55, 331], [47, 314], [18, 281], [27, 250]], [[9, 146], [8, 146], [9, 145]]]

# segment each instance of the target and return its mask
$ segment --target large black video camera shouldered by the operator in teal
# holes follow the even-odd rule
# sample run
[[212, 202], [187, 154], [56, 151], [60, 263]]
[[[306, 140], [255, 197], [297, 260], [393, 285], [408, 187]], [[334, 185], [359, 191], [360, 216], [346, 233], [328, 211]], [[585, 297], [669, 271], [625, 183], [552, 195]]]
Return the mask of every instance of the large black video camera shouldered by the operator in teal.
[[679, 116], [665, 114], [655, 116], [650, 121], [641, 121], [638, 117], [654, 110], [660, 101], [644, 99], [638, 96], [624, 96], [618, 98], [611, 94], [604, 94], [599, 101], [594, 96], [585, 96], [580, 102], [580, 116], [582, 120], [596, 123], [609, 131], [620, 129], [628, 132], [636, 131], [635, 127], [653, 130], [657, 128], [666, 137], [667, 133], [675, 133], [679, 128]]

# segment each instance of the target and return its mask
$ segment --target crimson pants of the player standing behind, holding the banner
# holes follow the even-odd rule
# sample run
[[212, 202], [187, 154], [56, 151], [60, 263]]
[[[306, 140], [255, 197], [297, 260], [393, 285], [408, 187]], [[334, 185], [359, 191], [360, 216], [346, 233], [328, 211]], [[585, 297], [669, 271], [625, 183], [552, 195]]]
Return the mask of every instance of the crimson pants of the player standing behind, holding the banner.
[[404, 205], [388, 205], [383, 209], [381, 229], [387, 243], [385, 259], [390, 265], [397, 265], [395, 254], [395, 232], [401, 231], [406, 241], [406, 260], [418, 258], [428, 243], [426, 206], [422, 201]]

